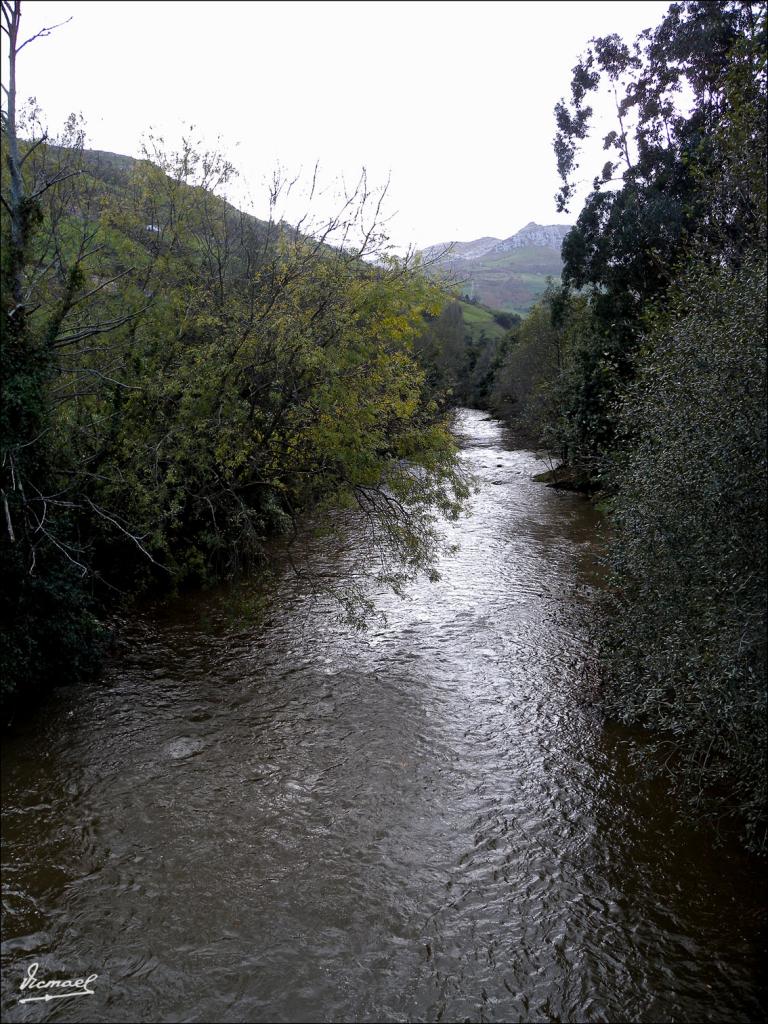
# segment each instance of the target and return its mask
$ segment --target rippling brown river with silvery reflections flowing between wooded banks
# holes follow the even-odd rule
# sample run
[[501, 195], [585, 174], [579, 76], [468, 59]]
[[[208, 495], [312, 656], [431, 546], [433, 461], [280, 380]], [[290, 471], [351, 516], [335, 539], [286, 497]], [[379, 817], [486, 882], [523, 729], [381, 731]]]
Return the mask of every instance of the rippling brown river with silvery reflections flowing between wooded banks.
[[[457, 430], [459, 550], [375, 595], [386, 624], [290, 573], [250, 620], [243, 587], [185, 598], [16, 728], [5, 1019], [764, 1018], [755, 863], [590, 709], [596, 513], [484, 414]], [[95, 994], [22, 1004], [32, 963]]]

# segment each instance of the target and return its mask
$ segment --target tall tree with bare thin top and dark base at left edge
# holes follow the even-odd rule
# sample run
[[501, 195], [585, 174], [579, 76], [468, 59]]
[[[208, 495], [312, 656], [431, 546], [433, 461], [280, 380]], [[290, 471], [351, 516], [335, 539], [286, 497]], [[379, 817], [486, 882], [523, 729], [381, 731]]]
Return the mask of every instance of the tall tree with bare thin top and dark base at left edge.
[[22, 41], [20, 12], [20, 3], [3, 0], [8, 78], [2, 113], [7, 173], [2, 189], [0, 560], [5, 580], [3, 682], [10, 686], [32, 665], [44, 677], [61, 664], [75, 672], [90, 664], [88, 651], [94, 649], [99, 629], [84, 580], [87, 565], [73, 518], [72, 488], [61, 477], [56, 442], [59, 411], [73, 392], [67, 384], [62, 391], [57, 388], [68, 376], [82, 382], [98, 372], [66, 367], [60, 353], [118, 330], [135, 315], [132, 310], [104, 313], [109, 303], [102, 301], [103, 290], [110, 281], [98, 280], [94, 232], [85, 220], [79, 231], [70, 230], [65, 191], [77, 189], [81, 173], [76, 120], [59, 144], [51, 145], [46, 133], [34, 134], [33, 111], [27, 125], [32, 137], [19, 137], [18, 56], [56, 28]]

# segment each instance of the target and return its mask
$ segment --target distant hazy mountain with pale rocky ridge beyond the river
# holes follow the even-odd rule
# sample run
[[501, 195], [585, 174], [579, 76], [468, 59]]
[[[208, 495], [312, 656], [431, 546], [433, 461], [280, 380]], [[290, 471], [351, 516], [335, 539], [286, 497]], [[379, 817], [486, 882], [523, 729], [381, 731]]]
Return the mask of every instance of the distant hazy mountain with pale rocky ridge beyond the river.
[[569, 224], [534, 221], [508, 239], [482, 238], [429, 246], [422, 256], [430, 271], [458, 286], [462, 295], [494, 309], [526, 312], [559, 279], [560, 248]]

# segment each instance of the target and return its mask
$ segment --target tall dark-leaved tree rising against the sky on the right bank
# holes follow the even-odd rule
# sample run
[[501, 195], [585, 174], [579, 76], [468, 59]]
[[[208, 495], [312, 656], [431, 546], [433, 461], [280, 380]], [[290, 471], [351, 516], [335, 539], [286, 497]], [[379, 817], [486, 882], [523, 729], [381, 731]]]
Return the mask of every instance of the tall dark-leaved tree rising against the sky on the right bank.
[[[559, 210], [577, 188], [590, 95], [606, 87], [616, 111], [615, 128], [603, 140], [609, 159], [562, 250], [563, 283], [589, 293], [594, 314], [577, 392], [595, 413], [585, 441], [598, 456], [597, 471], [600, 454], [614, 443], [616, 403], [634, 374], [647, 304], [663, 298], [692, 239], [708, 231], [702, 182], [717, 176], [724, 160], [719, 129], [734, 113], [729, 75], [738, 67], [749, 77], [764, 45], [764, 3], [672, 4], [660, 26], [632, 46], [615, 35], [592, 40], [573, 69], [570, 101], [555, 109]], [[750, 230], [755, 210], [753, 201], [732, 198], [735, 241]]]

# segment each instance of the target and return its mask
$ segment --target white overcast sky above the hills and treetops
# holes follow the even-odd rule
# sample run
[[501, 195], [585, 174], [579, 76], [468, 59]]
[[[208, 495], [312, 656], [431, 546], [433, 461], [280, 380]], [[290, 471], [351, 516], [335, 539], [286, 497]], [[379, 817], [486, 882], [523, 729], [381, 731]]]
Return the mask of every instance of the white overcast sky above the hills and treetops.
[[[82, 112], [94, 148], [137, 155], [151, 126], [169, 140], [191, 124], [208, 144], [220, 136], [256, 213], [273, 169], [319, 161], [326, 180], [362, 166], [391, 178], [398, 246], [506, 238], [578, 212], [555, 212], [553, 106], [587, 41], [634, 38], [668, 6], [26, 0], [25, 38], [72, 20], [24, 50], [18, 89], [51, 130]], [[601, 156], [583, 165], [589, 179]]]

